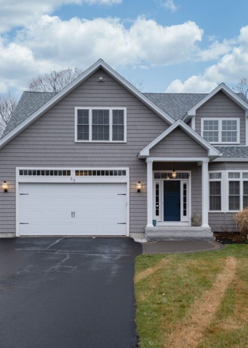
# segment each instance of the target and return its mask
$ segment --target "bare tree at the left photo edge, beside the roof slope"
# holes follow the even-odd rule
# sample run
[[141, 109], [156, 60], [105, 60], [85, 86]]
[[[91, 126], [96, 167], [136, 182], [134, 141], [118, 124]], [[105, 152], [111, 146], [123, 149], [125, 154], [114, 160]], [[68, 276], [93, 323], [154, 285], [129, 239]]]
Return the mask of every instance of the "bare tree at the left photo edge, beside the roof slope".
[[16, 100], [10, 93], [0, 93], [0, 134], [6, 127], [15, 107]]

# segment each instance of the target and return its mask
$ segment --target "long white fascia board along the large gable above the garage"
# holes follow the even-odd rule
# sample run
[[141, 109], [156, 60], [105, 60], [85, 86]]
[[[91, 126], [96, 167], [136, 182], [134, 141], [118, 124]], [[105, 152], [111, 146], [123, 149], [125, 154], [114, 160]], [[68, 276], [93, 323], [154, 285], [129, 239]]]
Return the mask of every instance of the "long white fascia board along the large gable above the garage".
[[122, 85], [124, 85], [127, 89], [129, 89], [134, 95], [136, 95], [140, 100], [143, 101], [148, 107], [150, 107], [153, 111], [158, 113], [164, 120], [169, 122], [169, 124], [173, 124], [175, 120], [167, 115], [164, 111], [162, 111], [157, 105], [155, 105], [150, 99], [144, 96], [138, 89], [133, 87], [129, 82], [127, 82], [121, 75], [119, 75], [114, 69], [112, 69], [108, 64], [106, 64], [102, 59], [99, 59], [96, 63], [94, 63], [90, 68], [85, 70], [77, 79], [72, 81], [68, 86], [62, 89], [58, 94], [56, 94], [52, 99], [50, 99], [46, 104], [44, 104], [41, 108], [35, 111], [31, 116], [29, 116], [25, 121], [23, 121], [19, 126], [9, 132], [4, 138], [0, 140], [0, 148], [2, 148], [6, 143], [8, 143], [11, 139], [13, 139], [17, 134], [19, 134], [23, 129], [28, 127], [32, 122], [38, 119], [41, 115], [43, 115], [46, 111], [48, 111], [52, 106], [54, 106], [57, 102], [59, 102], [63, 96], [68, 94], [71, 90], [77, 87], [80, 83], [86, 80], [90, 75], [92, 75], [97, 69], [103, 68], [110, 75], [112, 75], [115, 79], [117, 79]]

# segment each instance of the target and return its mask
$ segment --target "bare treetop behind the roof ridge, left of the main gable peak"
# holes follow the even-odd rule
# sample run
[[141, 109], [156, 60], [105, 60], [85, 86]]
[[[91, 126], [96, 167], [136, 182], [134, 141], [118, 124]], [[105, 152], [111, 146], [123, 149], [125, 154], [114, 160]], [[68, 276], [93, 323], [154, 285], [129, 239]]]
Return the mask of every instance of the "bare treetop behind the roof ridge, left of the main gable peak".
[[67, 68], [38, 75], [29, 82], [27, 89], [31, 92], [60, 92], [82, 73], [80, 68]]

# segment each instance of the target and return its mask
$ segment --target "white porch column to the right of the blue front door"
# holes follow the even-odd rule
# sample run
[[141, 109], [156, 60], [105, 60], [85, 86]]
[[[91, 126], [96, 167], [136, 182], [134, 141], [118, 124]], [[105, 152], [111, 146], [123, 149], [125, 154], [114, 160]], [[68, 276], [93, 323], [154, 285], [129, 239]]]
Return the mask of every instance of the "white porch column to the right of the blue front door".
[[201, 200], [202, 200], [202, 225], [208, 225], [208, 162], [202, 162], [201, 165]]

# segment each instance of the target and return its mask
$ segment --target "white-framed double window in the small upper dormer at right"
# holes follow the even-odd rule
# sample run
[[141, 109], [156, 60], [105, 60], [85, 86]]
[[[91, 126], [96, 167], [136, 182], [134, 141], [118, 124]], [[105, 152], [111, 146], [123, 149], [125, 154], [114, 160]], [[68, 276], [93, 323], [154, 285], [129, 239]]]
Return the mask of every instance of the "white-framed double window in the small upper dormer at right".
[[201, 136], [212, 144], [239, 144], [239, 118], [202, 118]]

